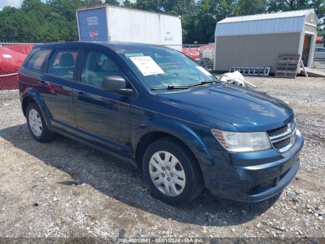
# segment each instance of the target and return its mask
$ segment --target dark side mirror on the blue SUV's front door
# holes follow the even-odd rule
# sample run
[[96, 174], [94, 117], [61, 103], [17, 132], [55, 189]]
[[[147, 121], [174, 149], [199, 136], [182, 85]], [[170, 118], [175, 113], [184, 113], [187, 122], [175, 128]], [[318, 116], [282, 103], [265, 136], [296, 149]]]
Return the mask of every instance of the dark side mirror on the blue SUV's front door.
[[126, 88], [127, 81], [121, 76], [107, 76], [103, 78], [101, 88], [111, 93], [131, 95], [133, 89]]

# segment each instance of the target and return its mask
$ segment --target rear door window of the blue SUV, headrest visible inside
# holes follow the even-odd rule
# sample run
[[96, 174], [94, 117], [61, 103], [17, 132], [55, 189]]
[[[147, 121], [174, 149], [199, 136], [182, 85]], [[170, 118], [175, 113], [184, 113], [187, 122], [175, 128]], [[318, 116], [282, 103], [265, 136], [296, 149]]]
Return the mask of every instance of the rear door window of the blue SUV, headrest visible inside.
[[77, 50], [55, 50], [50, 58], [47, 73], [73, 79], [77, 55]]

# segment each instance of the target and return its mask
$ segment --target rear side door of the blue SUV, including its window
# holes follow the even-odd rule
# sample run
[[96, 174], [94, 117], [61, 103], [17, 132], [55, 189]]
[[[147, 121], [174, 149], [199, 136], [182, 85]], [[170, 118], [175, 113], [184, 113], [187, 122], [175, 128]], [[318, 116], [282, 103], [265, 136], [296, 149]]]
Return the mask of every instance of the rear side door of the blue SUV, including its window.
[[46, 73], [38, 77], [40, 85], [46, 88], [42, 97], [52, 115], [51, 125], [72, 135], [77, 129], [72, 87], [76, 82], [78, 57], [78, 50], [54, 49], [45, 68]]

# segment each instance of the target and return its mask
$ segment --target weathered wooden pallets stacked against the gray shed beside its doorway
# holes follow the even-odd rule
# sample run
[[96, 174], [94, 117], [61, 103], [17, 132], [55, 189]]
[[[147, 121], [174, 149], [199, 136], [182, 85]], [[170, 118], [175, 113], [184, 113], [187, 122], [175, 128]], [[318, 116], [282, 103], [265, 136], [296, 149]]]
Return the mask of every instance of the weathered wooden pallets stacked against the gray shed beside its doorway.
[[300, 55], [280, 54], [277, 64], [274, 77], [295, 79], [300, 64]]

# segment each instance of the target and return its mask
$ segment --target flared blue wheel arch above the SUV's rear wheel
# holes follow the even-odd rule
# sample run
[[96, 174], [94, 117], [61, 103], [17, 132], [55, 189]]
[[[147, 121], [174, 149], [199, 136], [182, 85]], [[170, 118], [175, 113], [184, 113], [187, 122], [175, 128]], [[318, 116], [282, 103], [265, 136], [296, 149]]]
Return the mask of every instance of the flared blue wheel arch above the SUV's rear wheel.
[[24, 99], [26, 98], [32, 98], [35, 100], [35, 102], [42, 111], [46, 125], [50, 127], [52, 115], [50, 113], [49, 108], [46, 106], [46, 103], [42, 98], [41, 94], [35, 88], [29, 87], [25, 89], [23, 93], [20, 94], [21, 106], [23, 105]]

